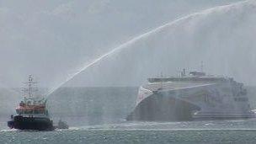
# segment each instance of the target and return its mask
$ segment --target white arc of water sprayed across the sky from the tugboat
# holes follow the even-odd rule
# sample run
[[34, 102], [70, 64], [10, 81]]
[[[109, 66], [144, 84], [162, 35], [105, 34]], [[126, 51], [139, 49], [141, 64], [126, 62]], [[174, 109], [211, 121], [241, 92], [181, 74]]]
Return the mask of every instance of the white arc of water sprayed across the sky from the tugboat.
[[112, 55], [114, 54], [116, 51], [120, 51], [122, 49], [125, 49], [126, 47], [128, 47], [128, 45], [132, 45], [134, 44], [136, 41], [138, 40], [142, 40], [143, 38], [147, 38], [147, 36], [149, 35], [152, 35], [154, 33], [157, 33], [158, 31], [161, 31], [163, 30], [164, 28], [167, 28], [169, 26], [172, 26], [174, 24], [178, 24], [180, 21], [182, 20], [185, 20], [185, 19], [189, 19], [189, 18], [193, 18], [195, 16], [198, 16], [198, 15], [202, 15], [202, 14], [208, 14], [208, 13], [211, 13], [213, 10], [215, 9], [222, 9], [222, 8], [229, 8], [229, 7], [232, 7], [234, 5], [237, 5], [237, 4], [240, 4], [240, 3], [246, 3], [248, 1], [243, 1], [243, 2], [238, 2], [238, 3], [232, 3], [232, 4], [228, 4], [228, 5], [224, 5], [224, 6], [217, 6], [217, 7], [214, 7], [214, 8], [208, 8], [208, 9], [205, 9], [203, 11], [200, 11], [198, 13], [192, 13], [192, 14], [189, 14], [187, 16], [184, 16], [180, 19], [176, 19], [176, 20], [173, 20], [172, 22], [169, 22], [167, 24], [163, 24], [162, 26], [159, 26], [155, 29], [152, 29], [150, 31], [148, 31], [147, 33], [144, 33], [142, 35], [138, 35], [136, 36], [135, 38], [131, 39], [131, 40], [128, 40], [127, 42], [115, 47], [114, 49], [112, 49], [111, 51], [105, 53], [104, 55], [102, 56], [99, 56], [98, 58], [94, 59], [93, 61], [91, 61], [89, 64], [85, 65], [84, 67], [81, 67], [77, 72], [74, 72], [70, 77], [67, 77], [67, 79], [65, 81], [63, 81], [62, 83], [60, 83], [57, 87], [55, 88], [52, 88], [49, 93], [46, 94], [46, 98], [49, 97], [49, 95], [51, 95], [51, 93], [55, 92], [56, 89], [58, 88], [61, 88], [62, 85], [64, 85], [65, 83], [69, 82], [73, 77], [76, 77], [79, 73], [83, 72], [84, 70], [86, 70], [88, 67], [92, 67], [95, 63], [98, 63], [99, 61], [101, 61], [102, 59], [108, 57], [109, 55]]

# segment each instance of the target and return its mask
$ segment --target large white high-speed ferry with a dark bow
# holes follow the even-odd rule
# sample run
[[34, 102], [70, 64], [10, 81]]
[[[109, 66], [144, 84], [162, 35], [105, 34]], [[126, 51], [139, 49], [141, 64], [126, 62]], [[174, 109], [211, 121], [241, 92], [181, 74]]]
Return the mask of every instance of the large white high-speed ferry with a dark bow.
[[243, 83], [232, 77], [184, 69], [176, 77], [153, 77], [139, 88], [126, 120], [180, 121], [254, 118]]

